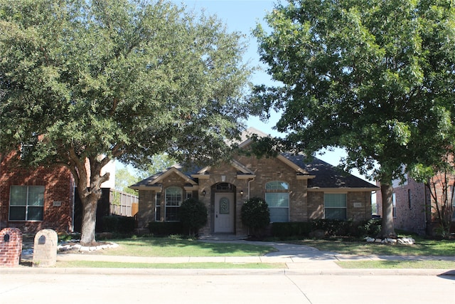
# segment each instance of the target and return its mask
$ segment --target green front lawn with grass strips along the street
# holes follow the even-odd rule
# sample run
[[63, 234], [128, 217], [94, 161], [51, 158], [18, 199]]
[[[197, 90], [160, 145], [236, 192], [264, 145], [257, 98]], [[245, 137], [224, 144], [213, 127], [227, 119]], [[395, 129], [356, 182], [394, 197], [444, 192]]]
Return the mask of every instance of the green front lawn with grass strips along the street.
[[[289, 241], [318, 248], [321, 251], [352, 254], [357, 256], [387, 255], [387, 256], [454, 256], [455, 241], [430, 240], [415, 238], [414, 245], [390, 245], [382, 243], [366, 243], [365, 241], [343, 240], [299, 240]], [[194, 239], [168, 238], [131, 238], [109, 240], [119, 245], [90, 254], [111, 256], [146, 256], [146, 257], [178, 257], [178, 256], [263, 256], [277, 251], [271, 246], [239, 243], [204, 243]], [[283, 241], [279, 241], [283, 242]], [[342, 268], [427, 268], [455, 269], [453, 261], [347, 261], [338, 262]], [[97, 268], [284, 268], [284, 263], [112, 263], [71, 261], [58, 262], [57, 267], [97, 267]]]

